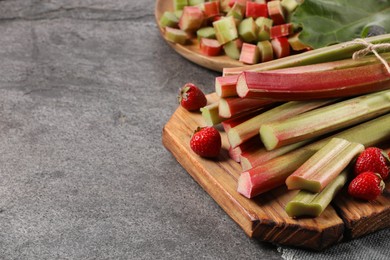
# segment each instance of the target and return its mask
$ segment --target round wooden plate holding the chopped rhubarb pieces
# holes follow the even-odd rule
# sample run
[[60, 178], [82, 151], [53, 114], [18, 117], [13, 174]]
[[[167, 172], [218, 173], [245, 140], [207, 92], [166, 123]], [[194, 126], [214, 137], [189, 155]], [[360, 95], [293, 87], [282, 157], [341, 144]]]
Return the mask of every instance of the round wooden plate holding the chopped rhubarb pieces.
[[[173, 1], [172, 0], [157, 0], [156, 1], [156, 9], [155, 9], [155, 17], [156, 22], [159, 25], [159, 21], [161, 16], [165, 11], [173, 10]], [[164, 28], [160, 28], [161, 35], [164, 37]], [[166, 40], [166, 39], [165, 39]], [[188, 45], [181, 45], [169, 42], [166, 42], [180, 55], [184, 58], [211, 70], [221, 72], [223, 68], [232, 68], [232, 67], [241, 67], [244, 66], [242, 62], [231, 59], [226, 55], [209, 57], [201, 54], [198, 41], [196, 39], [192, 39]]]

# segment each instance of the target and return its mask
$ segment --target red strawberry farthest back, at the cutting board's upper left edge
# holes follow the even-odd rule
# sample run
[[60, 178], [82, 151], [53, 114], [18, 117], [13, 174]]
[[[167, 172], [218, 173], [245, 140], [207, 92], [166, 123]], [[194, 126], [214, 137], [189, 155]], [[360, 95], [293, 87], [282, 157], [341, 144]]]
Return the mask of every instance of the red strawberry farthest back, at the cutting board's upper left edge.
[[199, 110], [207, 104], [202, 90], [192, 83], [187, 83], [180, 89], [178, 99], [181, 106], [189, 111]]

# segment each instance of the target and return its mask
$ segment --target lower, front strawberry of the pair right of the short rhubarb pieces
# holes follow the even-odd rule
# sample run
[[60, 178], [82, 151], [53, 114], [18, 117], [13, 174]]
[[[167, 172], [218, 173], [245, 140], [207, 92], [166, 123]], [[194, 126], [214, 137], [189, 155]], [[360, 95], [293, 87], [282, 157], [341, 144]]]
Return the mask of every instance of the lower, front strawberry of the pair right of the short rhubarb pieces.
[[348, 186], [348, 194], [363, 200], [376, 199], [385, 188], [385, 183], [379, 174], [363, 172], [356, 176]]

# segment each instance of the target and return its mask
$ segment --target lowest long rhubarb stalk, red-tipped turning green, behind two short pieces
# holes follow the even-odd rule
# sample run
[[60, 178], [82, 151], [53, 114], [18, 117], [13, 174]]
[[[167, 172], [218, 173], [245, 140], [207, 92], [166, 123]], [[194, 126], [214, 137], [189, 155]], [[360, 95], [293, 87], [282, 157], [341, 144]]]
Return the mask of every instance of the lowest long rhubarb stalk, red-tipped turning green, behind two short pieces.
[[272, 159], [241, 173], [237, 191], [253, 198], [283, 185], [288, 176], [334, 137], [361, 143], [365, 147], [380, 145], [390, 139], [389, 125], [390, 114], [386, 114]]

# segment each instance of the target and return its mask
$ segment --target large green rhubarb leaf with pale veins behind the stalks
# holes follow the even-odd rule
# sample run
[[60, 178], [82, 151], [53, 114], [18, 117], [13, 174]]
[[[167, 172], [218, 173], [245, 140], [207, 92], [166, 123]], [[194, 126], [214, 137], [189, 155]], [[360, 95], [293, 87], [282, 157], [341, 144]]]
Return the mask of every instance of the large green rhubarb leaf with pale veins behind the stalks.
[[305, 0], [291, 22], [302, 28], [300, 40], [315, 49], [366, 37], [371, 26], [390, 33], [390, 0]]

